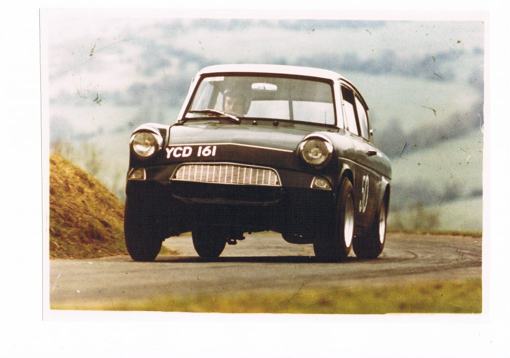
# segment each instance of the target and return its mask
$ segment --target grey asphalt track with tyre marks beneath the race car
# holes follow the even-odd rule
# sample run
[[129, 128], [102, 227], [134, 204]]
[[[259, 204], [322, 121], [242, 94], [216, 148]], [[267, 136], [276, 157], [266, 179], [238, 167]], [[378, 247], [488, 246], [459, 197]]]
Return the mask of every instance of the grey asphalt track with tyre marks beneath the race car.
[[351, 251], [344, 262], [318, 262], [312, 245], [286, 243], [274, 232], [246, 235], [214, 260], [199, 258], [190, 236], [169, 238], [177, 250], [155, 262], [129, 256], [50, 260], [50, 304], [155, 299], [164, 295], [298, 292], [481, 277], [481, 238], [389, 233], [375, 260]]

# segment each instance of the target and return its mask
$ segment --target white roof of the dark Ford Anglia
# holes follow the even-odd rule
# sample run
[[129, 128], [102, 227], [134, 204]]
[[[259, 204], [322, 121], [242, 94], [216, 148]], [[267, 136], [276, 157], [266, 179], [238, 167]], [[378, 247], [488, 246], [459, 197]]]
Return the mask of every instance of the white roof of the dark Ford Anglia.
[[238, 73], [269, 73], [278, 75], [299, 75], [326, 78], [330, 80], [343, 79], [342, 75], [335, 71], [327, 69], [301, 67], [301, 66], [287, 66], [287, 65], [270, 65], [270, 64], [223, 64], [214, 65], [202, 68], [198, 75], [219, 73], [219, 72], [238, 72]]

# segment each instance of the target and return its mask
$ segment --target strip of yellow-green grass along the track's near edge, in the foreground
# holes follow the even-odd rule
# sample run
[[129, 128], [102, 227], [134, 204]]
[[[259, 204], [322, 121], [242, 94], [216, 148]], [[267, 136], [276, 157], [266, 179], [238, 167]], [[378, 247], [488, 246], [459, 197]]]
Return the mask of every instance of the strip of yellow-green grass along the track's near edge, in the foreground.
[[52, 304], [52, 309], [196, 313], [481, 313], [481, 279], [388, 287], [332, 287], [292, 293], [155, 297], [142, 301]]

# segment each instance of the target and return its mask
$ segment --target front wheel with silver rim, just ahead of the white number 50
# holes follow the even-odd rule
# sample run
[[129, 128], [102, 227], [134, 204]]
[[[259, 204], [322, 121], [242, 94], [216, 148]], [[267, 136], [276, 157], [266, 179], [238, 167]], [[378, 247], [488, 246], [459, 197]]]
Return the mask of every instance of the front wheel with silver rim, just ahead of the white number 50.
[[314, 242], [315, 255], [320, 260], [341, 261], [350, 252], [354, 234], [354, 190], [348, 178], [342, 181], [335, 211], [335, 222]]

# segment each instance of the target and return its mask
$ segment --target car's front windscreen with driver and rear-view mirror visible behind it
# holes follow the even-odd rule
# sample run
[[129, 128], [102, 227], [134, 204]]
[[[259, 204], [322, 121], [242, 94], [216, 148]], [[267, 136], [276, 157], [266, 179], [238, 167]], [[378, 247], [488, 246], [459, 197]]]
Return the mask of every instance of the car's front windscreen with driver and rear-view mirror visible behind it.
[[[237, 117], [336, 124], [328, 82], [265, 76], [205, 77], [189, 110], [214, 109]], [[186, 117], [203, 116], [188, 113]]]

